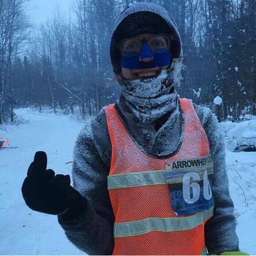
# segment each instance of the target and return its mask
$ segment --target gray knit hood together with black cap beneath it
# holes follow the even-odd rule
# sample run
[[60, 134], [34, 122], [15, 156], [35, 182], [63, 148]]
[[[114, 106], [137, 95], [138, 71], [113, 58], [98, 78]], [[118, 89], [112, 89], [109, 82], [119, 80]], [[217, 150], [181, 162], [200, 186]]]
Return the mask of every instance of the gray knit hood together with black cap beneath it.
[[110, 42], [110, 60], [115, 74], [121, 73], [120, 52], [116, 48], [116, 42], [144, 33], [172, 34], [172, 56], [182, 57], [181, 38], [172, 16], [157, 4], [147, 2], [130, 4], [117, 19]]

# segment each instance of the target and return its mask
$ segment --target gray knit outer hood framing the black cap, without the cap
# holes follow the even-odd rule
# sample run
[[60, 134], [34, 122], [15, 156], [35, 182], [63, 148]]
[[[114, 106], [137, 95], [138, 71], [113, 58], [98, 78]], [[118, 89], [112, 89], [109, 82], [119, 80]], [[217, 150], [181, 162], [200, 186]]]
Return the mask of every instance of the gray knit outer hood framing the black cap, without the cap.
[[[120, 23], [127, 18], [131, 14], [135, 14], [136, 12], [152, 12], [153, 14], [159, 15], [167, 24], [167, 28], [169, 31], [166, 33], [170, 33], [173, 35], [173, 41], [171, 46], [171, 52], [173, 56], [173, 60], [182, 58], [182, 44], [180, 34], [177, 30], [177, 25], [174, 22], [172, 16], [161, 6], [153, 3], [147, 2], [139, 2], [130, 4], [124, 11], [121, 12], [118, 17], [116, 24], [113, 29], [111, 42], [110, 42], [110, 60], [113, 66], [113, 71], [115, 74], [121, 73], [121, 62], [120, 62], [120, 53], [116, 48], [116, 42], [118, 40], [117, 29]], [[139, 34], [139, 33], [138, 33]]]

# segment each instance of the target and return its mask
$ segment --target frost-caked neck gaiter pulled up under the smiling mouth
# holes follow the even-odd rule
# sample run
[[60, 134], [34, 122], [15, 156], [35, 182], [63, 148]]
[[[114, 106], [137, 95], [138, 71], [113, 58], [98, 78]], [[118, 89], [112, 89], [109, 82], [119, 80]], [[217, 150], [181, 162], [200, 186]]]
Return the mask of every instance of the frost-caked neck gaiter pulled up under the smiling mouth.
[[128, 108], [142, 123], [151, 123], [178, 107], [174, 87], [180, 86], [180, 61], [163, 69], [156, 78], [118, 80]]

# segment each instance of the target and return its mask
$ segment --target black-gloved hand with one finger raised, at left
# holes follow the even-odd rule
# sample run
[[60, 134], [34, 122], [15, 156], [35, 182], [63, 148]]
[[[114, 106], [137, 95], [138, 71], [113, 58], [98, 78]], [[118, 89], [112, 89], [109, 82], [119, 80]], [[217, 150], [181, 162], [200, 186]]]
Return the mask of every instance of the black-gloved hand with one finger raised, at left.
[[70, 185], [69, 175], [46, 170], [47, 156], [43, 151], [35, 153], [27, 177], [22, 185], [22, 195], [29, 208], [47, 214], [59, 215], [68, 210], [76, 214], [86, 208], [86, 200]]

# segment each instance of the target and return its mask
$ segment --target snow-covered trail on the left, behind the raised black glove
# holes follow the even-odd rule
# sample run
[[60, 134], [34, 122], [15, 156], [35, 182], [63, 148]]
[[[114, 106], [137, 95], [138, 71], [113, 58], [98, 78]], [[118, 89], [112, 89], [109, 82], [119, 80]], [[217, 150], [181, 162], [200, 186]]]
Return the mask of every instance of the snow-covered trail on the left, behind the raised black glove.
[[0, 137], [8, 138], [10, 147], [18, 147], [0, 150], [0, 255], [84, 254], [66, 238], [56, 216], [30, 210], [21, 193], [27, 168], [38, 150], [46, 151], [48, 168], [59, 174], [71, 173], [72, 164], [65, 162], [72, 161], [83, 124], [31, 109], [15, 112], [29, 122], [0, 130]]

